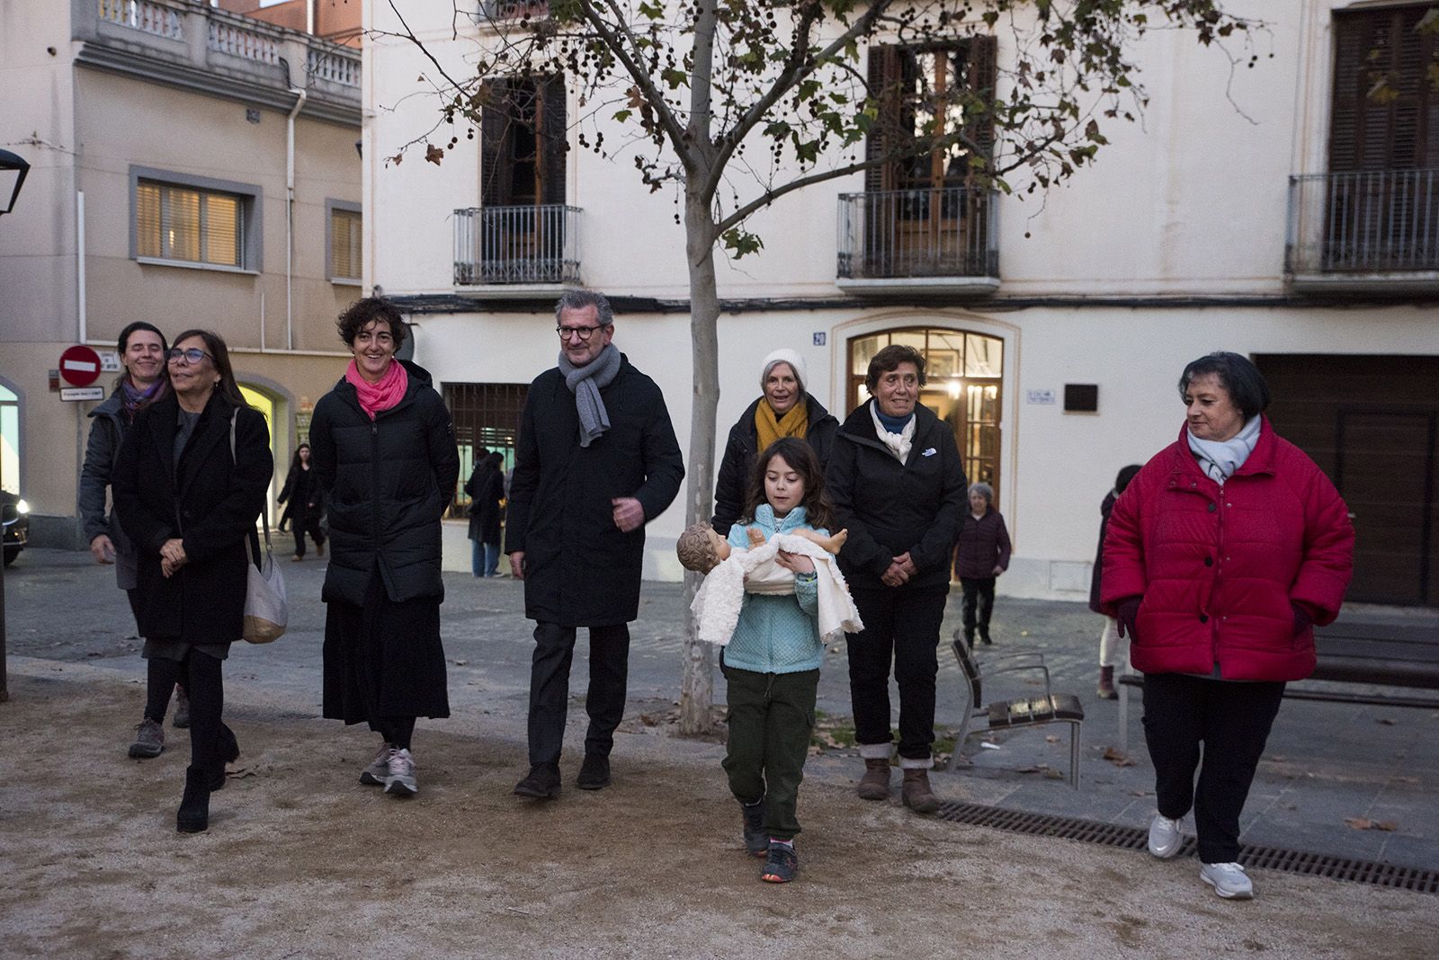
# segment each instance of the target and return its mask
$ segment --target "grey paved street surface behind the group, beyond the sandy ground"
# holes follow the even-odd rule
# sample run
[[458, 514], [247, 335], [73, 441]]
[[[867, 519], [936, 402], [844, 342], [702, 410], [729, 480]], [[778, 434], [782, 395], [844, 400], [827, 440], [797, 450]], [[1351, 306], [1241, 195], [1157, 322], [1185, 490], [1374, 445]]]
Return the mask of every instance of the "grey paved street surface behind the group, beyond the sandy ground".
[[[236, 644], [226, 665], [232, 681], [273, 693], [296, 720], [319, 714], [319, 664], [324, 605], [319, 586], [324, 562], [282, 560], [289, 585], [291, 631], [268, 647]], [[26, 550], [6, 571], [9, 655], [43, 661], [88, 663], [130, 677], [135, 684], [135, 716], [142, 704], [144, 661], [124, 595], [109, 568], [88, 553]], [[528, 694], [531, 624], [524, 619], [522, 585], [446, 573], [442, 606], [445, 648], [450, 663], [453, 716], [422, 721], [450, 731], [466, 727], [508, 737], [515, 749], [515, 776], [524, 772], [524, 719]], [[662, 734], [679, 687], [682, 594], [676, 583], [646, 583], [640, 617], [632, 625], [630, 709], [622, 731]], [[1439, 627], [1436, 611], [1348, 609], [1345, 617]], [[945, 641], [958, 625], [958, 589], [945, 617]], [[1131, 698], [1131, 765], [1104, 759], [1120, 743], [1118, 704], [1094, 696], [1098, 635], [1102, 625], [1082, 604], [1019, 601], [1000, 596], [994, 611], [996, 644], [981, 648], [981, 661], [1019, 648], [1045, 654], [1056, 693], [1075, 693], [1085, 704], [1081, 789], [1062, 779], [1068, 770], [1068, 727], [1039, 727], [991, 737], [997, 749], [970, 737], [967, 762], [954, 773], [938, 773], [941, 795], [967, 802], [1144, 826], [1153, 813], [1153, 770], [1144, 753], [1138, 698]], [[948, 645], [941, 647], [938, 721], [957, 726], [960, 674]], [[587, 678], [584, 640], [571, 677], [568, 743], [583, 737], [583, 691]], [[994, 684], [994, 696], [1025, 696], [1033, 681]], [[724, 698], [717, 675], [715, 698]], [[894, 697], [898, 709], [898, 696]], [[278, 707], [279, 709], [279, 707]], [[848, 717], [849, 690], [843, 645], [826, 657], [819, 709]], [[3, 709], [0, 709], [3, 710]], [[115, 731], [117, 744], [128, 730]], [[423, 740], [422, 740], [423, 743]], [[671, 739], [669, 749], [694, 749]], [[119, 746], [117, 746], [119, 749]], [[619, 746], [625, 749], [623, 739]], [[826, 752], [806, 767], [810, 777], [853, 779], [861, 762], [849, 752]], [[1317, 854], [1374, 859], [1439, 869], [1439, 710], [1384, 709], [1286, 700], [1245, 809], [1243, 839]], [[1367, 821], [1392, 829], [1356, 829]]]

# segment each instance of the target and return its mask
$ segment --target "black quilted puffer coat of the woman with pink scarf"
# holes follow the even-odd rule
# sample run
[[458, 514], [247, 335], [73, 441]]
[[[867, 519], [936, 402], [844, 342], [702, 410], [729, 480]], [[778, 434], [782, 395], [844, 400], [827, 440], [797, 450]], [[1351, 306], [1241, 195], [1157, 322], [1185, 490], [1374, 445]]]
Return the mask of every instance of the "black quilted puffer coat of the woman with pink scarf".
[[399, 404], [370, 420], [344, 377], [315, 404], [309, 457], [330, 513], [330, 566], [321, 599], [364, 605], [376, 565], [394, 602], [445, 596], [440, 517], [455, 496], [455, 423], [409, 361]]

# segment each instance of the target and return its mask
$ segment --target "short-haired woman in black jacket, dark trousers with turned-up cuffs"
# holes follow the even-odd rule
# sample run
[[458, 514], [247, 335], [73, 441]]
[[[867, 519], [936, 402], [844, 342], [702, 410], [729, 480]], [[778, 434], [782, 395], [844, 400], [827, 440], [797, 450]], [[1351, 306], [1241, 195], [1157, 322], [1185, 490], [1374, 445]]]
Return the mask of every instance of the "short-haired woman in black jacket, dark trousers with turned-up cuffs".
[[840, 425], [825, 474], [835, 523], [849, 529], [839, 566], [865, 624], [846, 634], [855, 739], [865, 760], [859, 796], [889, 796], [889, 668], [899, 683], [901, 798], [918, 813], [940, 799], [934, 766], [934, 684], [950, 556], [964, 512], [954, 431], [920, 404], [924, 356], [892, 343], [869, 361], [871, 400]]

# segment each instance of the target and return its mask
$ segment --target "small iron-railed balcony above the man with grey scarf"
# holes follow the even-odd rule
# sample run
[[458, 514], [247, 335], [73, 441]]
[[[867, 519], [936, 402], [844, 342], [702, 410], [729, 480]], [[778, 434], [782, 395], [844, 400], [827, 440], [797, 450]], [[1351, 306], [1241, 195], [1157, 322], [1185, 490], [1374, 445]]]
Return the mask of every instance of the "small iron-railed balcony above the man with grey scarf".
[[550, 295], [580, 283], [580, 208], [564, 204], [455, 211], [455, 286]]

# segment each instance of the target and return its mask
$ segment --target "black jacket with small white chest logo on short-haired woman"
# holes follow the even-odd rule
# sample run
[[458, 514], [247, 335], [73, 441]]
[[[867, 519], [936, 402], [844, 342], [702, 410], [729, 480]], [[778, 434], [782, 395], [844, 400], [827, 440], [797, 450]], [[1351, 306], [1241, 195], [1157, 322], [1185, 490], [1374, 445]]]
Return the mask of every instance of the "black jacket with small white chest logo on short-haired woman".
[[856, 407], [840, 425], [825, 471], [835, 529], [849, 530], [839, 566], [852, 586], [879, 589], [894, 558], [908, 552], [918, 575], [898, 589], [948, 588], [968, 489], [954, 433], [915, 404], [914, 446], [901, 464], [875, 433], [873, 402]]

